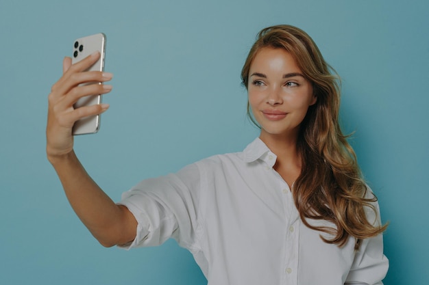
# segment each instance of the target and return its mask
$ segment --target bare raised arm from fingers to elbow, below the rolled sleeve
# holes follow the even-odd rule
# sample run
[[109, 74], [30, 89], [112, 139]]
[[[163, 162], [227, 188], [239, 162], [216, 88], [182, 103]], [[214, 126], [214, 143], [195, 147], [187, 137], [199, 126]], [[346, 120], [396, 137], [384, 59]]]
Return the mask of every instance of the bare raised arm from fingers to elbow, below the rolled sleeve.
[[99, 56], [94, 53], [74, 65], [71, 65], [71, 58], [64, 58], [63, 75], [49, 94], [46, 150], [73, 210], [99, 243], [110, 247], [134, 239], [136, 219], [125, 206], [115, 204], [86, 173], [73, 151], [72, 135], [77, 120], [108, 109], [106, 104], [73, 108], [79, 98], [112, 90], [112, 86], [104, 84], [79, 86], [80, 83], [112, 79], [112, 74], [107, 72], [84, 71]]

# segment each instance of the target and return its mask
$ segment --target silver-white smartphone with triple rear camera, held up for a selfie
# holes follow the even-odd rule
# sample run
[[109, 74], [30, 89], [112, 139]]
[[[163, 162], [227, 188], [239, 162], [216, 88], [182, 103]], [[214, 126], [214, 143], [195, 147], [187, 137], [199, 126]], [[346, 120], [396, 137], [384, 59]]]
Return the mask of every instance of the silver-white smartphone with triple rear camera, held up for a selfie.
[[[99, 51], [100, 58], [87, 69], [87, 71], [103, 71], [104, 70], [104, 58], [106, 53], [106, 35], [104, 33], [97, 33], [92, 36], [86, 36], [84, 38], [78, 38], [73, 42], [73, 55], [71, 57], [72, 64], [79, 62], [88, 55]], [[83, 83], [82, 85], [88, 84], [101, 84], [101, 82], [89, 82]], [[101, 103], [101, 94], [95, 94], [80, 98], [77, 100], [73, 107], [79, 108], [82, 106], [96, 105]], [[97, 133], [100, 128], [100, 115], [88, 116], [75, 122], [73, 126], [73, 135], [84, 135], [88, 133]]]

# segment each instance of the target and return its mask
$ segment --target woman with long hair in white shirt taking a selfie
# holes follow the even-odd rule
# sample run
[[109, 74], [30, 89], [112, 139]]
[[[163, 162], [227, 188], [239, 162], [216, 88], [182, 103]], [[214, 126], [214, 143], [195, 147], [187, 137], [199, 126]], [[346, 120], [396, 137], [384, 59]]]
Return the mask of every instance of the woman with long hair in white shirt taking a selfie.
[[341, 133], [336, 76], [304, 31], [263, 29], [243, 66], [260, 137], [243, 152], [143, 180], [119, 204], [73, 152], [74, 122], [108, 108], [73, 109], [77, 98], [112, 89], [78, 86], [112, 78], [83, 72], [98, 57], [73, 66], [64, 59], [49, 95], [47, 156], [102, 245], [160, 245], [173, 237], [192, 252], [208, 284], [382, 284], [386, 226]]

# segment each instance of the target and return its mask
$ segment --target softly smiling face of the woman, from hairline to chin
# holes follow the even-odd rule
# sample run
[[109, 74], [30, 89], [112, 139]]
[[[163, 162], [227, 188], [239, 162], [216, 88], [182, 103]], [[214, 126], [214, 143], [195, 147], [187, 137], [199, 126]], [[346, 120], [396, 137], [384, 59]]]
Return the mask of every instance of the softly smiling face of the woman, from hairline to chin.
[[247, 91], [262, 140], [279, 135], [296, 138], [308, 107], [316, 103], [311, 83], [284, 49], [258, 51], [250, 65]]

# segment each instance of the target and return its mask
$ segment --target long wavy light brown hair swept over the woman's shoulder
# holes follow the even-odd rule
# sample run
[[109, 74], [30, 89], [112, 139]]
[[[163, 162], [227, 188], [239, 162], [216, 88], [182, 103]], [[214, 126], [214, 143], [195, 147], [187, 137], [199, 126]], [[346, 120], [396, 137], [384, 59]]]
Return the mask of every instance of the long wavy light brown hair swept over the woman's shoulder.
[[[309, 107], [297, 139], [297, 149], [302, 157], [301, 174], [292, 187], [295, 206], [303, 223], [331, 235], [326, 243], [343, 246], [350, 236], [355, 238], [355, 249], [362, 239], [376, 236], [387, 225], [368, 221], [365, 208], [377, 213], [377, 198], [367, 193], [356, 161], [356, 154], [347, 142], [339, 125], [340, 79], [335, 70], [325, 62], [319, 48], [305, 31], [291, 25], [276, 25], [262, 29], [249, 51], [241, 71], [246, 89], [249, 69], [260, 49], [284, 49], [290, 53], [313, 87], [317, 97]], [[247, 113], [256, 124], [247, 104]], [[315, 226], [309, 221], [330, 221], [333, 226]]]

